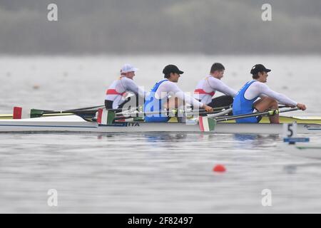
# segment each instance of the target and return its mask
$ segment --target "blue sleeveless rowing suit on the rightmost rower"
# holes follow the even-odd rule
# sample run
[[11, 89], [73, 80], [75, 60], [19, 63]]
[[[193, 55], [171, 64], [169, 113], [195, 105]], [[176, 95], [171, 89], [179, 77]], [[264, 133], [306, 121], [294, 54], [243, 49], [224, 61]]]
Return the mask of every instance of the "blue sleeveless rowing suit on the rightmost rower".
[[[249, 81], [238, 91], [238, 93], [236, 93], [233, 101], [233, 115], [253, 113], [253, 103], [256, 99], [258, 99], [258, 96], [256, 98], [253, 98], [252, 100], [248, 100], [244, 97], [244, 94], [245, 91], [248, 90], [249, 86], [251, 86], [255, 81], [256, 80]], [[236, 123], [258, 123], [258, 119], [256, 117], [241, 118], [237, 119]]]

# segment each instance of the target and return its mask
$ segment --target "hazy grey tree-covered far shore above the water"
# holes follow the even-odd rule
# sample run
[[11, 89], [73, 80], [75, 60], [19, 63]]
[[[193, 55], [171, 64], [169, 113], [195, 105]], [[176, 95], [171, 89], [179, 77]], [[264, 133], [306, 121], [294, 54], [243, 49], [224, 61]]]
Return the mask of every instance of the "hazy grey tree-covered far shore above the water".
[[0, 0], [2, 54], [321, 53], [320, 40], [320, 0]]

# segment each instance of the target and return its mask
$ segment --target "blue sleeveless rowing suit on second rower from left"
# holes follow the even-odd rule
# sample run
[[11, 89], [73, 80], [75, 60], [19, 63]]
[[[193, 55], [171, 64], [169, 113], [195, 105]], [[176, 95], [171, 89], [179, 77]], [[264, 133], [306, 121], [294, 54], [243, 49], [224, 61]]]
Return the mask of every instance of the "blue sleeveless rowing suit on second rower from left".
[[[155, 93], [156, 93], [156, 90], [158, 89], [158, 87], [161, 86], [161, 83], [163, 83], [164, 81], [168, 81], [168, 79], [164, 79], [162, 81], [159, 81], [151, 89], [151, 93], [149, 93], [149, 95], [146, 98], [145, 103], [144, 103], [144, 111], [145, 112], [157, 112], [157, 111], [161, 112], [163, 110], [163, 105], [167, 101], [167, 98], [157, 99], [157, 98], [155, 98]], [[146, 115], [145, 121], [146, 122], [167, 122], [168, 117], [165, 116], [165, 113]]]

